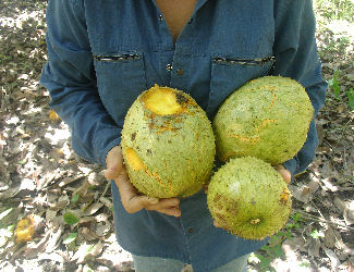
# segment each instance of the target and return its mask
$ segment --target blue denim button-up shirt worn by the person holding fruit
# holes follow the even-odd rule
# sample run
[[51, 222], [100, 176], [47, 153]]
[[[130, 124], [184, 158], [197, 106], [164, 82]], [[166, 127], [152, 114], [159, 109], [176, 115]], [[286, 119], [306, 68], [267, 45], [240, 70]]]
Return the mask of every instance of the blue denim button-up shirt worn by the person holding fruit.
[[[309, 0], [198, 0], [175, 44], [154, 0], [52, 0], [47, 23], [41, 84], [71, 127], [73, 149], [93, 162], [105, 164], [120, 144], [127, 109], [154, 84], [188, 92], [210, 120], [234, 89], [269, 74], [305, 86], [316, 113], [324, 104], [327, 85]], [[305, 170], [316, 146], [313, 122], [285, 168], [292, 174]], [[112, 196], [118, 240], [135, 255], [209, 271], [266, 243], [213, 227], [204, 191], [181, 200], [181, 218], [126, 213], [114, 183]]]

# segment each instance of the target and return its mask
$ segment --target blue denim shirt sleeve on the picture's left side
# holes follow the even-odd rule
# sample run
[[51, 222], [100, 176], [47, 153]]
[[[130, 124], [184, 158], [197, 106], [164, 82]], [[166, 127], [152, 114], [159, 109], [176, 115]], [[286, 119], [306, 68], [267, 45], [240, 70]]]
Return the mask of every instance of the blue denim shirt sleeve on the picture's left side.
[[75, 0], [49, 1], [48, 62], [40, 84], [49, 90], [51, 108], [70, 126], [76, 153], [106, 164], [107, 152], [120, 144], [121, 127], [99, 98], [84, 17]]

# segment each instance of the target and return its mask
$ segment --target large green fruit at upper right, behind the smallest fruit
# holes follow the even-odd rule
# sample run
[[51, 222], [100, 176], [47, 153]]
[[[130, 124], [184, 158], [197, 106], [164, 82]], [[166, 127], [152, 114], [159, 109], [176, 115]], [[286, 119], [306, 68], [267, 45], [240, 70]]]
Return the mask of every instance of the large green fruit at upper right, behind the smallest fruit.
[[303, 147], [313, 118], [314, 108], [297, 82], [281, 76], [251, 81], [223, 102], [212, 122], [218, 157], [282, 163]]

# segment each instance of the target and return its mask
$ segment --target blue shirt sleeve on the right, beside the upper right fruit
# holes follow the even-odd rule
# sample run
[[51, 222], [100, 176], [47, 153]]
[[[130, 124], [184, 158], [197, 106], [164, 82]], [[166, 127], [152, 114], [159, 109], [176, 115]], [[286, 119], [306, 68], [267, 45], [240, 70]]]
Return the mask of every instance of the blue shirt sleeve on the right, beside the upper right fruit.
[[318, 146], [315, 118], [324, 107], [327, 83], [321, 77], [321, 64], [317, 54], [316, 24], [312, 1], [276, 1], [274, 22], [276, 64], [273, 74], [288, 76], [301, 83], [315, 109], [306, 143], [293, 159], [283, 163], [294, 176], [305, 171], [314, 160]]

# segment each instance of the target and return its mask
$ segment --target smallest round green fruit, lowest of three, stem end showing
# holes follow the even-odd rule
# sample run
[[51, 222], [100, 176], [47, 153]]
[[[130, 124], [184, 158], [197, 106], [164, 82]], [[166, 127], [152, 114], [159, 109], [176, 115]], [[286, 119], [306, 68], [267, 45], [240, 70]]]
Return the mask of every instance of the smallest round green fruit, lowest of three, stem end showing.
[[263, 239], [288, 221], [291, 195], [282, 176], [259, 159], [231, 159], [211, 177], [208, 208], [215, 221], [230, 233]]

